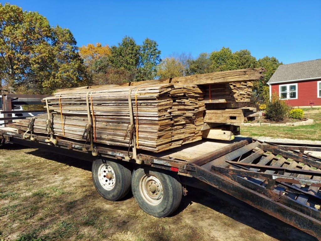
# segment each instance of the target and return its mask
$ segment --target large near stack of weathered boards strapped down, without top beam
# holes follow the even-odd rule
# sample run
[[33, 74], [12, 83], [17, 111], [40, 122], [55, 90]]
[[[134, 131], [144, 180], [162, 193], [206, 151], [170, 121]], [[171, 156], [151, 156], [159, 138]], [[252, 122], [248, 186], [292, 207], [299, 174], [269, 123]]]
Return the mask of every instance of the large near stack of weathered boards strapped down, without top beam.
[[[128, 91], [132, 88], [106, 86], [92, 90], [89, 108], [94, 116], [92, 125], [97, 143], [129, 145]], [[83, 139], [88, 123], [87, 94], [88, 89], [70, 90], [47, 98], [55, 135]], [[144, 85], [131, 91], [131, 97], [139, 149], [159, 152], [202, 139], [205, 106], [202, 91], [196, 85]], [[47, 119], [47, 114], [38, 115], [34, 131], [46, 133]], [[29, 120], [21, 120], [12, 126], [24, 130], [28, 123]]]

